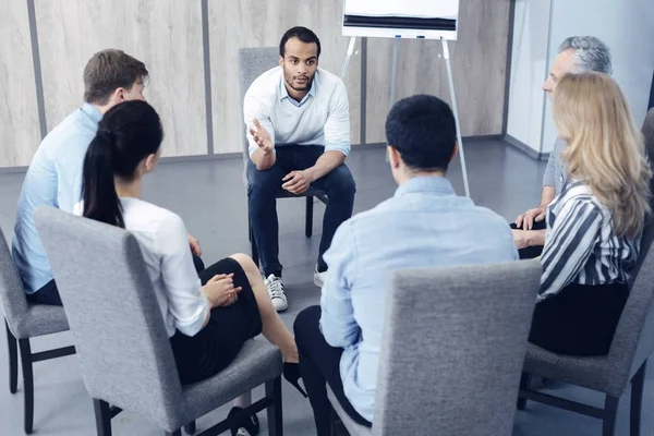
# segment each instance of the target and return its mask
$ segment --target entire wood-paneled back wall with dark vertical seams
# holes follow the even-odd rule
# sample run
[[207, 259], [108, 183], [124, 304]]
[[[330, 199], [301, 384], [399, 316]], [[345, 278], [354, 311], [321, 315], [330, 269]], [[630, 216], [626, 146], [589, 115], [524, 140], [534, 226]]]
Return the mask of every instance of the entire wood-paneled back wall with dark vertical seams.
[[[150, 71], [148, 100], [164, 119], [164, 156], [207, 153], [202, 0], [37, 0], [48, 129], [82, 102], [84, 65], [94, 52], [120, 48]], [[510, 0], [462, 0], [459, 40], [450, 43], [463, 135], [500, 134]], [[349, 38], [341, 35], [341, 0], [208, 0], [214, 152], [239, 153], [242, 114], [238, 49], [278, 46], [294, 25], [323, 44], [320, 68], [340, 75]], [[39, 141], [26, 0], [0, 0], [0, 167], [25, 166]], [[360, 142], [361, 41], [346, 85], [352, 144]], [[366, 143], [385, 141], [392, 40], [368, 39]], [[400, 40], [396, 99], [429, 93], [449, 101], [440, 44]]]

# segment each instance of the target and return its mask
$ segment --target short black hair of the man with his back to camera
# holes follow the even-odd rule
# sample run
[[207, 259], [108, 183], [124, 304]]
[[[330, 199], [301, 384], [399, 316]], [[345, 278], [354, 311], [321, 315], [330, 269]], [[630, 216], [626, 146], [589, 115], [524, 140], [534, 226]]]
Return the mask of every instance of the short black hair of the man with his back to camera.
[[455, 116], [437, 97], [407, 97], [386, 118], [386, 141], [409, 168], [445, 172], [457, 144]]

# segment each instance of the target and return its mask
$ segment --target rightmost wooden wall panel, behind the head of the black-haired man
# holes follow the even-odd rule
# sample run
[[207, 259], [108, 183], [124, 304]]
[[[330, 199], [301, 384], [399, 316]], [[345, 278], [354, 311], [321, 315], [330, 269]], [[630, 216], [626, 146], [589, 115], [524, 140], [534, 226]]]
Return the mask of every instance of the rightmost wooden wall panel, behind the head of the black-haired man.
[[[461, 0], [459, 35], [450, 41], [452, 76], [463, 136], [502, 133], [510, 0]], [[436, 40], [401, 39], [396, 100], [433, 94], [450, 102], [445, 61]], [[366, 142], [385, 142], [392, 39], [370, 38]]]

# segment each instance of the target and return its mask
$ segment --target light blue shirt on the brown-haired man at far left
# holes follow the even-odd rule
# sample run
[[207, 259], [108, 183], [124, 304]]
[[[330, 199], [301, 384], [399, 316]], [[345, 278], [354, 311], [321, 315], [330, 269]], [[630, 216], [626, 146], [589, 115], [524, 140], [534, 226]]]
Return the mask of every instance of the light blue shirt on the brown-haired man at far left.
[[34, 225], [34, 211], [39, 206], [73, 211], [81, 197], [84, 156], [101, 118], [93, 105], [84, 104], [44, 138], [29, 164], [16, 207], [12, 244], [27, 293], [38, 291], [52, 279]]

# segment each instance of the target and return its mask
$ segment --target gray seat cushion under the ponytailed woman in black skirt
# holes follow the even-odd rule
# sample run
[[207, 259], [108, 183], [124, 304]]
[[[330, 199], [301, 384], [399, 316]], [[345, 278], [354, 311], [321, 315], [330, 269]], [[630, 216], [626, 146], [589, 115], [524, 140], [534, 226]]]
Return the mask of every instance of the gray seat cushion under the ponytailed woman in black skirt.
[[179, 416], [178, 427], [279, 377], [281, 368], [281, 352], [277, 347], [262, 340], [246, 341], [227, 368], [210, 378], [182, 387], [182, 398], [192, 416]]

